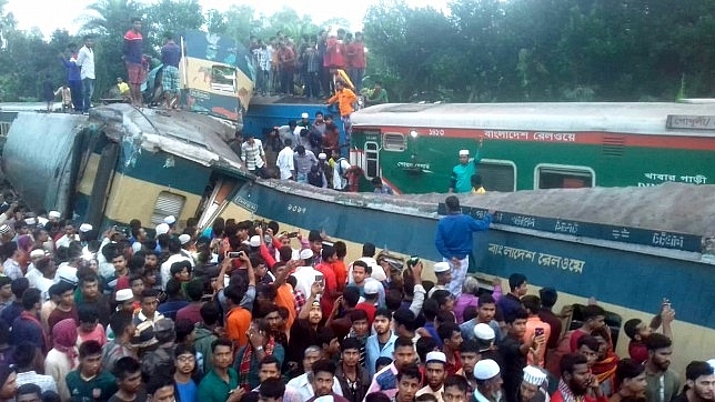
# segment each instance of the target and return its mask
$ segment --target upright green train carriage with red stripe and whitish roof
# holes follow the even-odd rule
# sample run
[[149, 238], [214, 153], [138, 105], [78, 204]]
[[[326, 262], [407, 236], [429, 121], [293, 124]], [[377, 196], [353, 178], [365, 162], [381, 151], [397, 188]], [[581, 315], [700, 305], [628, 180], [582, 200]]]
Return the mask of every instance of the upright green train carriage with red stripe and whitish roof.
[[707, 100], [381, 104], [353, 114], [351, 161], [396, 193], [446, 192], [459, 151], [480, 140], [487, 191], [715, 180]]

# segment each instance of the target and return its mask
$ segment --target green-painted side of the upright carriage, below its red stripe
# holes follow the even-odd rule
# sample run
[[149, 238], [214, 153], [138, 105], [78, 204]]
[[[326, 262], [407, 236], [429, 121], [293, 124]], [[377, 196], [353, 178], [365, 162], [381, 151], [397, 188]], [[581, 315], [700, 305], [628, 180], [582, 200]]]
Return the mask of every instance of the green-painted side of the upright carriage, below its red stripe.
[[[470, 139], [406, 137], [404, 151], [385, 150], [382, 135], [375, 130], [353, 131], [352, 149], [364, 150], [365, 142], [377, 142], [381, 177], [401, 193], [446, 192], [450, 172], [459, 163], [459, 150], [477, 150]], [[694, 180], [697, 175], [711, 183], [715, 180], [712, 151], [662, 149], [623, 145], [606, 149], [601, 144], [535, 143], [484, 141], [483, 161], [504, 161], [515, 167], [516, 190], [534, 189], [537, 165], [584, 167], [595, 173], [594, 185], [657, 185], [664, 181]], [[667, 174], [675, 180], [659, 180], [646, 174]], [[688, 179], [683, 179], [683, 178]], [[484, 178], [487, 179], [487, 178]], [[486, 180], [485, 180], [486, 181]], [[489, 187], [487, 187], [487, 190]]]

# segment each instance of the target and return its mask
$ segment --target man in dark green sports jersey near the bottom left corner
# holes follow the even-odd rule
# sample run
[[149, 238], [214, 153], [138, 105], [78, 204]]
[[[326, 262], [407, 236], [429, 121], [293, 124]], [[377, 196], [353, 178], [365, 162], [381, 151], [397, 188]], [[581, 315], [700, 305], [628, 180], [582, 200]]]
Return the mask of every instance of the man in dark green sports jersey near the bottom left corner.
[[73, 402], [104, 402], [117, 392], [114, 375], [101, 371], [102, 346], [97, 341], [80, 345], [80, 365], [67, 374], [67, 388]]

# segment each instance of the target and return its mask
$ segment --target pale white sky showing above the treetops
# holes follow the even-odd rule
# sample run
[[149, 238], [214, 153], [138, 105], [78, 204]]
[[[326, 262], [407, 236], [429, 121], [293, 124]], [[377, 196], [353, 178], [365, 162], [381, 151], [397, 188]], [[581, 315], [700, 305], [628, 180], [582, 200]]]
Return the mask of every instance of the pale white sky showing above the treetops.
[[[390, 1], [390, 0], [386, 0]], [[4, 7], [6, 12], [12, 12], [18, 21], [18, 28], [30, 30], [38, 27], [49, 38], [56, 29], [67, 29], [70, 33], [77, 33], [79, 23], [77, 18], [84, 13], [87, 6], [95, 0], [9, 0]], [[150, 2], [150, 1], [148, 1]], [[296, 1], [291, 0], [268, 0], [268, 1], [239, 1], [239, 0], [199, 0], [203, 10], [225, 10], [231, 4], [249, 4], [256, 11], [271, 14], [284, 6], [295, 8]], [[447, 0], [407, 0], [413, 7], [432, 6], [446, 10]], [[352, 0], [338, 2], [335, 0], [305, 0], [304, 10], [298, 10], [299, 14], [310, 13], [313, 21], [322, 22], [330, 18], [345, 18], [350, 21], [352, 30], [361, 29], [365, 11], [379, 0]]]

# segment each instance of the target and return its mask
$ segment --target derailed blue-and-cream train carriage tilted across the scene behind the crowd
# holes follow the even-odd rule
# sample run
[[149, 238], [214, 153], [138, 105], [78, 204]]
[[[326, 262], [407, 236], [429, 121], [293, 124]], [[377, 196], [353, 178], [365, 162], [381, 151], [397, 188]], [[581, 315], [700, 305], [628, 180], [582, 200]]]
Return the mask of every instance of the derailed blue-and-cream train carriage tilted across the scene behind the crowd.
[[[370, 241], [396, 255], [440, 260], [433, 237], [443, 194], [381, 197], [259, 180], [226, 144], [232, 133], [209, 117], [124, 104], [89, 118], [19, 113], [2, 165], [31, 208], [100, 229], [134, 218], [150, 227], [169, 214], [180, 224], [198, 218], [201, 227], [219, 215], [266, 219], [282, 230], [324, 230], [344, 240], [351, 257]], [[647, 319], [668, 298], [677, 310], [675, 362], [684, 368], [715, 349], [713, 195], [713, 185], [668, 183], [461, 198], [475, 217], [500, 211], [493, 230], [474, 238], [477, 275], [523, 272], [535, 287], [556, 287], [560, 305], [596, 295], [624, 319]]]

